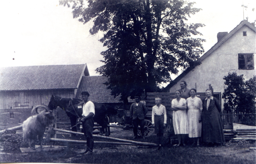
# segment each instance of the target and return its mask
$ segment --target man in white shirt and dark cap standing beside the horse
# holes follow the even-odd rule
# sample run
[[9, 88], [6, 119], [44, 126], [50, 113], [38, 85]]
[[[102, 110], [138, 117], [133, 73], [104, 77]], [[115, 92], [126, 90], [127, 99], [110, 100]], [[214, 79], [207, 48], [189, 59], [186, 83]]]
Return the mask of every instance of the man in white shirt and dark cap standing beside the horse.
[[82, 126], [84, 131], [84, 136], [86, 137], [87, 147], [84, 152], [81, 154], [92, 154], [93, 153], [93, 116], [95, 114], [95, 107], [93, 102], [89, 101], [88, 98], [90, 94], [88, 92], [82, 92], [82, 99], [83, 99], [83, 113], [82, 113]]

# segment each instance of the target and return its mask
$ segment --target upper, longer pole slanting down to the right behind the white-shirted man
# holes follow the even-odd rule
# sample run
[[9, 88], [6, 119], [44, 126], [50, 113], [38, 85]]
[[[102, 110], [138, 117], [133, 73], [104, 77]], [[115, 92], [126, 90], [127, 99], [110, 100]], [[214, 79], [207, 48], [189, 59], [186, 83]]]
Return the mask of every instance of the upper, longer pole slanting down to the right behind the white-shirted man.
[[[84, 133], [72, 132], [72, 131], [69, 131], [69, 130], [61, 130], [61, 129], [57, 129], [57, 128], [53, 128], [53, 130], [59, 131], [59, 132], [71, 133], [71, 134], [84, 135]], [[117, 139], [117, 138], [113, 138], [113, 137], [97, 136], [97, 135], [93, 135], [93, 137], [100, 138], [100, 139], [110, 139], [110, 140], [114, 140], [114, 141], [127, 142], [127, 143], [137, 144], [137, 145], [157, 146], [157, 144], [154, 144], [154, 143], [131, 141], [131, 140], [128, 140], [128, 139]]]

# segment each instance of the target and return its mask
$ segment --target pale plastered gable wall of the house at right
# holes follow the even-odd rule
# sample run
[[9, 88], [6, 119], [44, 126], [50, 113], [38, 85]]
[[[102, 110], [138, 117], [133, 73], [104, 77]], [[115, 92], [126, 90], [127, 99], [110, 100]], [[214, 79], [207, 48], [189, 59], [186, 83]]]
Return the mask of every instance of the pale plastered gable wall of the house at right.
[[[243, 36], [243, 31], [247, 31], [247, 36]], [[224, 85], [223, 77], [229, 72], [236, 71], [238, 75], [243, 74], [245, 80], [252, 78], [256, 75], [255, 36], [255, 32], [244, 25], [180, 81], [185, 80], [187, 88], [196, 88], [198, 92], [205, 92], [211, 85], [214, 92], [223, 93], [224, 88], [227, 87]], [[240, 53], [253, 53], [254, 70], [238, 69], [238, 54]], [[180, 81], [170, 88], [170, 92], [180, 89]]]

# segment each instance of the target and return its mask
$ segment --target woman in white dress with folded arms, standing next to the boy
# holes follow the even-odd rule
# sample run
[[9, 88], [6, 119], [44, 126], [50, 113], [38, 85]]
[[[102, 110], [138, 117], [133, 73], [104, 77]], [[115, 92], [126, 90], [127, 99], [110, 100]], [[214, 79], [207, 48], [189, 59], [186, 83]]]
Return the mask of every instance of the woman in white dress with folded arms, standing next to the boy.
[[181, 145], [181, 141], [183, 146], [186, 146], [185, 137], [189, 133], [188, 117], [186, 113], [187, 105], [186, 99], [181, 98], [180, 95], [180, 91], [177, 90], [175, 92], [176, 99], [172, 100], [172, 120], [174, 132], [177, 134], [179, 140], [179, 144], [177, 146]]

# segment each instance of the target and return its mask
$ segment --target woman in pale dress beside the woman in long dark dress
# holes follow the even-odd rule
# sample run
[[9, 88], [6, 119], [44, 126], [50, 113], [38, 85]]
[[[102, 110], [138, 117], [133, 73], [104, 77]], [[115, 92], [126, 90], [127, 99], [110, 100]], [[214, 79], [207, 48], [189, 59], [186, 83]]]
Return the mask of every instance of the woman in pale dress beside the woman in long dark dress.
[[192, 88], [190, 90], [190, 97], [186, 99], [188, 107], [188, 120], [189, 120], [189, 138], [193, 138], [193, 146], [195, 144], [199, 146], [199, 139], [201, 137], [202, 130], [202, 110], [203, 103], [200, 98], [196, 96], [196, 89]]

